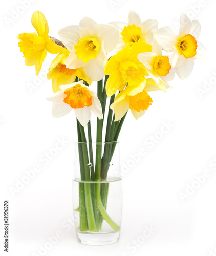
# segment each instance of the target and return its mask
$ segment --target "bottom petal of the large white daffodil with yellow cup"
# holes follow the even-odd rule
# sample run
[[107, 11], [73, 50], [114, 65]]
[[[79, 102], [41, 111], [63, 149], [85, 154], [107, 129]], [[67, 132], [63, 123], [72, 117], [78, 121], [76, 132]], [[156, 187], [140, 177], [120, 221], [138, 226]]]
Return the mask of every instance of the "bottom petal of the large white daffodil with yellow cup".
[[100, 81], [104, 77], [104, 67], [94, 59], [91, 59], [88, 65], [83, 67], [83, 71], [93, 81]]

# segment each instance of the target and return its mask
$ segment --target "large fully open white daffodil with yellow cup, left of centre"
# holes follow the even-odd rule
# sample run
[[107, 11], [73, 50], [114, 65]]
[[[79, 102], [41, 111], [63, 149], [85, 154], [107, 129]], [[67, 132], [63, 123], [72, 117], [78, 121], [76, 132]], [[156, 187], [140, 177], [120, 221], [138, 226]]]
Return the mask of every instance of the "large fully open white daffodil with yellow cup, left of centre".
[[119, 40], [119, 31], [111, 25], [99, 25], [89, 17], [84, 17], [79, 26], [72, 25], [58, 31], [64, 46], [71, 52], [66, 67], [82, 67], [93, 81], [104, 77], [106, 53], [114, 50]]

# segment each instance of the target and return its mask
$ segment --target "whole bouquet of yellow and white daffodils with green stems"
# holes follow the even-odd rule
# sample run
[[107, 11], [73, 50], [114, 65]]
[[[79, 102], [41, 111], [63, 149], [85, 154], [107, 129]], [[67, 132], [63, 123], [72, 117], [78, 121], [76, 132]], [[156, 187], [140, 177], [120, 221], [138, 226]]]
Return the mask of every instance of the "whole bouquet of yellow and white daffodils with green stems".
[[[57, 54], [47, 74], [54, 94], [47, 99], [53, 103], [52, 114], [56, 118], [74, 110], [78, 142], [82, 142], [78, 146], [83, 181], [106, 180], [107, 163], [112, 159], [115, 143], [102, 152], [103, 126], [106, 126], [104, 142], [117, 142], [129, 109], [136, 119], [143, 116], [153, 103], [150, 92], [166, 92], [175, 74], [180, 79], [187, 78], [194, 60], [206, 56], [205, 47], [198, 41], [200, 23], [190, 21], [185, 14], [181, 15], [178, 35], [171, 27], [158, 29], [156, 20], [141, 22], [134, 11], [129, 12], [128, 23], [101, 25], [84, 17], [79, 26], [61, 29], [60, 40], [49, 36], [48, 23], [41, 12], [36, 11], [31, 22], [37, 33], [19, 34], [18, 46], [25, 64], [35, 66], [36, 75], [47, 52]], [[105, 112], [106, 103], [109, 110]], [[91, 143], [92, 112], [97, 116], [97, 146], [95, 164], [89, 168], [87, 165], [93, 159], [91, 148], [88, 152], [85, 144], [84, 127], [87, 126]], [[80, 231], [99, 231], [103, 219], [113, 230], [119, 230], [119, 225], [106, 212], [108, 190], [101, 189], [99, 183], [91, 189], [88, 184], [82, 185], [79, 187]]]

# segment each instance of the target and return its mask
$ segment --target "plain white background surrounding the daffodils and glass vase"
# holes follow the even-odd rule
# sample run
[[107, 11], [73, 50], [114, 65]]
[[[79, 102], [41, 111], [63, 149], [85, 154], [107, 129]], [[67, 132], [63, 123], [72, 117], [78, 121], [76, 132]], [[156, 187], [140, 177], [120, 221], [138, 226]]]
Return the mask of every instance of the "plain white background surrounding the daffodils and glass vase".
[[[35, 0], [28, 3], [25, 9], [20, 7], [21, 1], [1, 4], [1, 255], [6, 254], [4, 200], [9, 201], [8, 254], [11, 256], [41, 255], [40, 246], [58, 231], [62, 231], [62, 238], [44, 255], [214, 255], [211, 251], [216, 248], [215, 1]], [[15, 16], [14, 10], [19, 14]], [[24, 65], [17, 46], [18, 33], [35, 32], [31, 16], [36, 10], [45, 14], [49, 34], [57, 38], [59, 29], [78, 25], [84, 16], [102, 24], [114, 20], [127, 22], [130, 10], [136, 11], [142, 20], [157, 19], [159, 27], [171, 26], [175, 32], [182, 12], [201, 23], [200, 41], [210, 57], [196, 62], [187, 80], [176, 77], [171, 83], [174, 89], [166, 94], [152, 93], [154, 103], [140, 120], [136, 121], [131, 113], [125, 120], [120, 135], [121, 162], [126, 173], [123, 219], [121, 238], [116, 244], [81, 245], [74, 227], [70, 231], [62, 227], [64, 221], [72, 218], [71, 162], [76, 121], [73, 113], [60, 119], [52, 117], [52, 103], [46, 100], [52, 94], [51, 81], [45, 75], [53, 56], [48, 55], [39, 79], [35, 80], [34, 67]], [[35, 88], [29, 90], [29, 84]], [[161, 134], [164, 122], [172, 127]], [[158, 138], [152, 147], [148, 144], [149, 136]], [[44, 166], [39, 157], [52, 150], [57, 139], [62, 138], [68, 141], [67, 145]], [[147, 154], [137, 157], [135, 163], [133, 156], [140, 148]], [[133, 167], [128, 168], [130, 164]], [[12, 195], [10, 188], [15, 188], [18, 180], [26, 175], [25, 171], [35, 165], [41, 171]], [[203, 184], [196, 183], [195, 176], [203, 175], [205, 170], [209, 171], [209, 177]], [[199, 188], [190, 191], [183, 200], [180, 193], [186, 193], [187, 184]], [[143, 231], [150, 225], [155, 231], [143, 242]], [[130, 247], [133, 241], [137, 241], [134, 249]]]

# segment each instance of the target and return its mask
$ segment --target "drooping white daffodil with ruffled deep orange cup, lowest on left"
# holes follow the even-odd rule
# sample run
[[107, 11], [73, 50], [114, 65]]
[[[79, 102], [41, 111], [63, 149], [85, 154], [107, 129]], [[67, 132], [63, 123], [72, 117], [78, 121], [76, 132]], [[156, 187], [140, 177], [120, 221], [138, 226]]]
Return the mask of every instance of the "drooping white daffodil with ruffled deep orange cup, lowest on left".
[[96, 92], [92, 87], [85, 86], [83, 81], [60, 86], [60, 91], [47, 100], [53, 102], [52, 114], [62, 117], [74, 109], [75, 115], [82, 126], [87, 126], [92, 111], [99, 118], [103, 118], [102, 108]]

